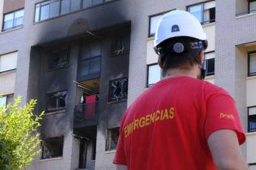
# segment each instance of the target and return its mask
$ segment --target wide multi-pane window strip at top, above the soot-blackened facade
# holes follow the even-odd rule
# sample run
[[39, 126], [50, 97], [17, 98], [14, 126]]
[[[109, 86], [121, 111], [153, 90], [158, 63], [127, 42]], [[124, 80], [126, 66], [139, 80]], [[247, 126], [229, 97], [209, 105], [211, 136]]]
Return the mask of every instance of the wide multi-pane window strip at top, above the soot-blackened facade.
[[[109, 1], [109, 0], [108, 0]], [[67, 14], [69, 12], [82, 8], [103, 4], [107, 0], [51, 0], [43, 1], [35, 4], [34, 22], [46, 20], [58, 15]], [[113, 1], [113, 0], [111, 0]]]

